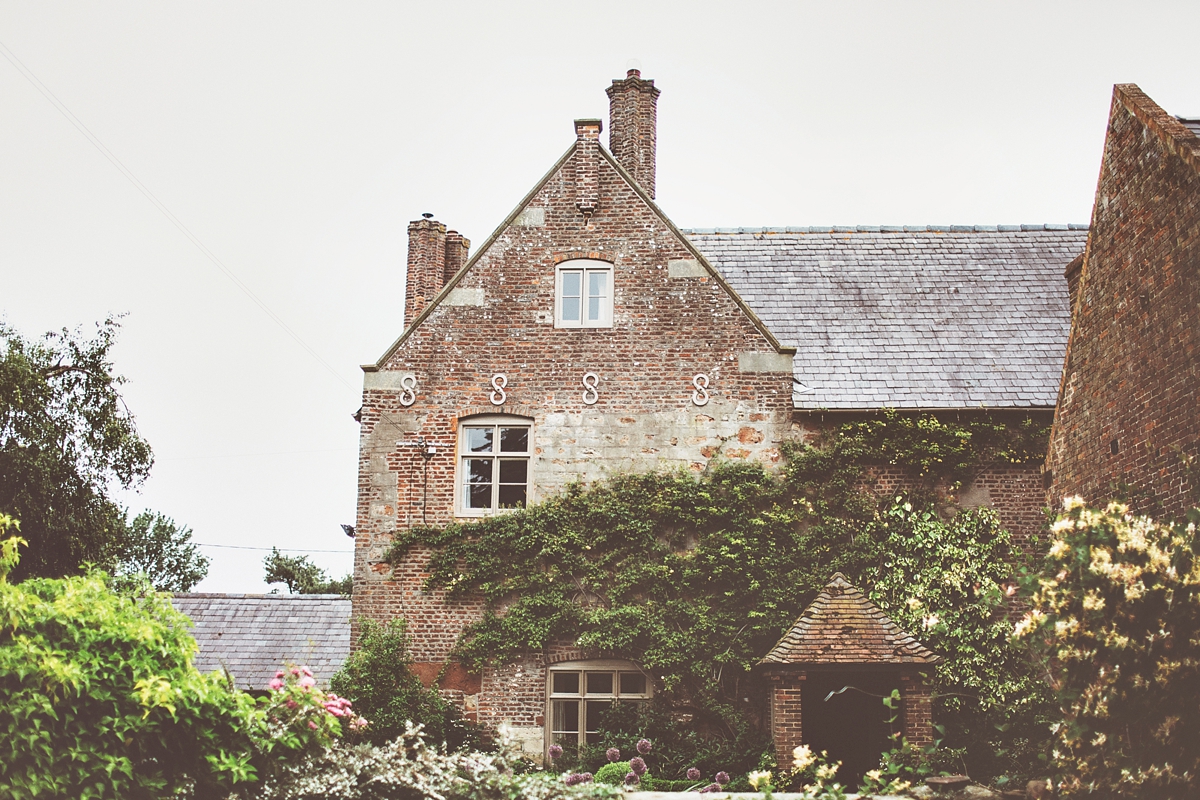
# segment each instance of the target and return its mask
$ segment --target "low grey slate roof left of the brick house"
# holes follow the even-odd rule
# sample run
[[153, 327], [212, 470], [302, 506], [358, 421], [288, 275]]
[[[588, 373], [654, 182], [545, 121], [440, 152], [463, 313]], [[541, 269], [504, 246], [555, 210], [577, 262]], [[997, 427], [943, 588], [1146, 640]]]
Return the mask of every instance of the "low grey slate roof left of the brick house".
[[350, 599], [342, 595], [178, 594], [191, 618], [200, 672], [228, 669], [239, 688], [264, 690], [287, 663], [328, 684], [350, 652]]

